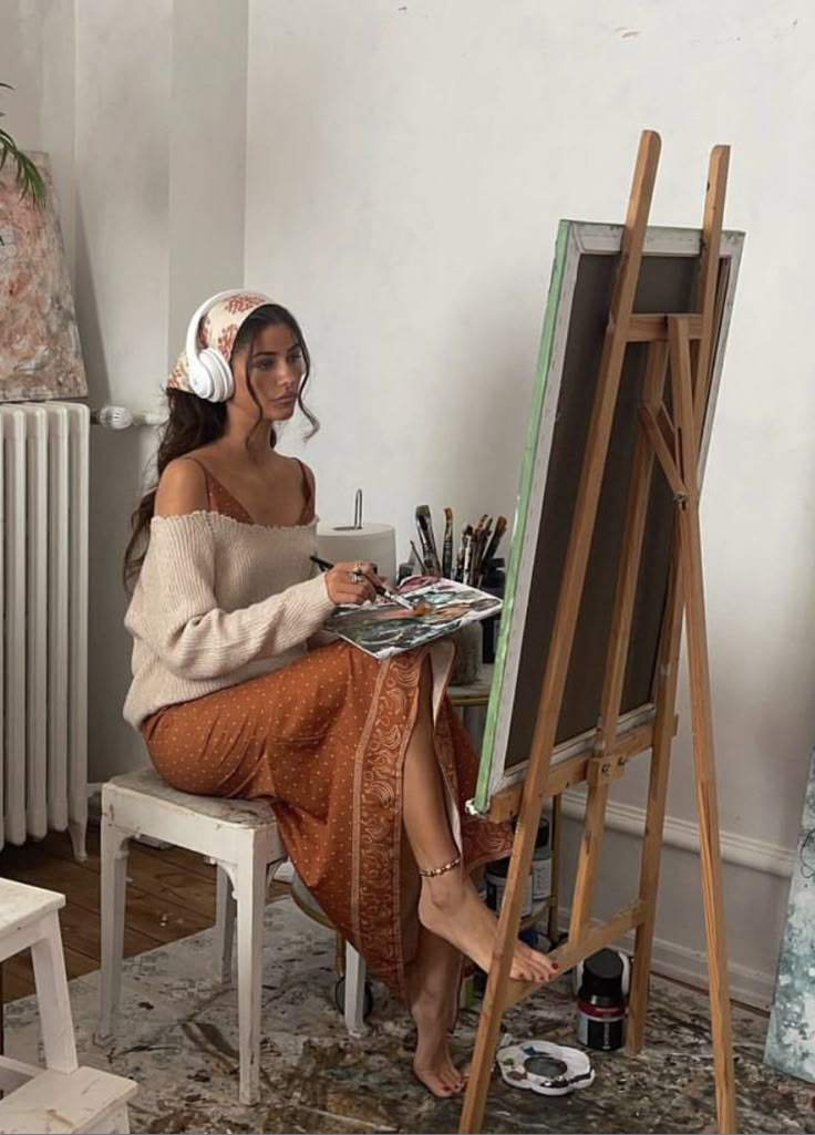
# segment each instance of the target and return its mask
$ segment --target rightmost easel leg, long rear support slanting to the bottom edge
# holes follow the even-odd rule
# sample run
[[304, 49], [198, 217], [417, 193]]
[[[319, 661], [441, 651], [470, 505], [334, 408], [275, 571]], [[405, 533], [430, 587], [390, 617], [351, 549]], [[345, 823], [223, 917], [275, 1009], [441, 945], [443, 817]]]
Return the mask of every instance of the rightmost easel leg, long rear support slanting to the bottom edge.
[[736, 1128], [736, 1081], [724, 931], [722, 858], [713, 749], [711, 678], [705, 630], [705, 595], [699, 529], [699, 451], [694, 417], [690, 346], [687, 319], [669, 318], [671, 379], [674, 415], [681, 439], [682, 473], [688, 498], [679, 510], [680, 555], [686, 595], [690, 713], [696, 765], [696, 799], [699, 814], [699, 852], [705, 902], [707, 974], [711, 995], [711, 1032], [716, 1082], [716, 1115], [721, 1133]]

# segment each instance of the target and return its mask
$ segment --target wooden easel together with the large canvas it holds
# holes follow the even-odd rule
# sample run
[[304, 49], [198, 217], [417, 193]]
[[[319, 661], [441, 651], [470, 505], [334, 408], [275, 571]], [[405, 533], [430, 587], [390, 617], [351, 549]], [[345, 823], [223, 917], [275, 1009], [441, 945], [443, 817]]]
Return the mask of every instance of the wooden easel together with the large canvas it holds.
[[[699, 536], [699, 484], [742, 235], [722, 232], [729, 150], [700, 230], [649, 229], [659, 138], [644, 132], [623, 226], [558, 234], [502, 637], [473, 810], [516, 832], [461, 1130], [479, 1130], [523, 884], [546, 799], [588, 788], [561, 970], [636, 933], [628, 1048], [642, 1043], [682, 629], [688, 642], [719, 1129], [736, 1129]], [[636, 898], [593, 900], [608, 789], [650, 753]]]

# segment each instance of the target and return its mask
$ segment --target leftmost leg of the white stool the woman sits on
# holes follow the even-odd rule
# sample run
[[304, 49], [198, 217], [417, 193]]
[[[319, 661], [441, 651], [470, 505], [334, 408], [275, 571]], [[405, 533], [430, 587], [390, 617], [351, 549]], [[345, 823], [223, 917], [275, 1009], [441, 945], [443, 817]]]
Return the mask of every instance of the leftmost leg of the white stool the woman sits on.
[[129, 836], [107, 817], [101, 822], [101, 933], [99, 975], [100, 1036], [111, 1036], [119, 1008], [121, 955], [125, 944], [125, 890]]

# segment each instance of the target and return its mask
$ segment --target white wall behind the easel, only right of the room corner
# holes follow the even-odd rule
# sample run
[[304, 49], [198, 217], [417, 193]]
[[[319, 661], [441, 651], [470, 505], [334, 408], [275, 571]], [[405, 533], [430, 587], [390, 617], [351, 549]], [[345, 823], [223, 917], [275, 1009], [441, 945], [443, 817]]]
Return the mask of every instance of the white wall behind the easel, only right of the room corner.
[[[772, 867], [725, 871], [731, 957], [759, 994], [815, 738], [814, 51], [800, 0], [250, 5], [246, 278], [302, 319], [322, 419], [286, 444], [324, 518], [347, 520], [362, 487], [401, 555], [420, 502], [437, 521], [513, 507], [558, 218], [621, 220], [652, 127], [652, 219], [696, 225], [709, 148], [732, 145], [726, 222], [748, 238], [705, 563], [725, 846]], [[681, 699], [669, 838], [695, 815], [684, 682]], [[632, 771], [614, 823], [644, 784]], [[630, 843], [608, 835], [608, 905]], [[698, 970], [700, 909], [696, 857], [669, 848], [657, 934], [677, 969]]]

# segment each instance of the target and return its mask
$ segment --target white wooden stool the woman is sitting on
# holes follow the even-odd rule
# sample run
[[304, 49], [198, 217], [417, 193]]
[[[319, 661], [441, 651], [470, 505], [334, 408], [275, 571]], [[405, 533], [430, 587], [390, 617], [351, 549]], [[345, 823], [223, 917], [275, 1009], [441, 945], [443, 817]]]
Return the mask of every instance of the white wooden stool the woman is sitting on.
[[[237, 928], [240, 1099], [259, 1091], [263, 913], [270, 868], [286, 858], [267, 804], [193, 796], [170, 788], [152, 768], [115, 776], [102, 785], [100, 1037], [112, 1035], [121, 983], [128, 842], [146, 835], [198, 851], [218, 867], [216, 973], [232, 975]], [[350, 950], [350, 948], [348, 948]], [[348, 952], [345, 1018], [362, 1027], [356, 955]], [[362, 980], [364, 987], [364, 975]], [[359, 1008], [358, 1008], [359, 1006]]]

